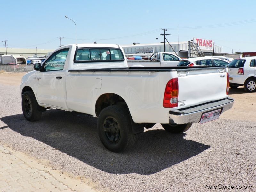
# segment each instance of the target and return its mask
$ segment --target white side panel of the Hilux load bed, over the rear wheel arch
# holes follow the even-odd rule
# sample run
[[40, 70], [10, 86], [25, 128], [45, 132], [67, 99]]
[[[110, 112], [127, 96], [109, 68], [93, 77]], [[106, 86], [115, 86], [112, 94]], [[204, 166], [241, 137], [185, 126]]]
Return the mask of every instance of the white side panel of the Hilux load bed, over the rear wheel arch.
[[[68, 108], [96, 116], [95, 103], [105, 93], [121, 96], [136, 123], [169, 123], [163, 107], [167, 82], [177, 72], [70, 72], [66, 77]], [[99, 89], [99, 80], [102, 80]], [[97, 88], [95, 85], [97, 84]]]

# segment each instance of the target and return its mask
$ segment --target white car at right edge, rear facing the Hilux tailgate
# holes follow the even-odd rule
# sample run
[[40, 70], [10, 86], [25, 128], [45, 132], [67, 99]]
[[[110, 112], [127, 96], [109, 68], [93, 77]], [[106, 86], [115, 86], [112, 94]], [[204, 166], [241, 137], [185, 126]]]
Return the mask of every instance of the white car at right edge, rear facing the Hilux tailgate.
[[229, 87], [244, 86], [246, 92], [256, 90], [256, 57], [234, 59], [228, 64]]

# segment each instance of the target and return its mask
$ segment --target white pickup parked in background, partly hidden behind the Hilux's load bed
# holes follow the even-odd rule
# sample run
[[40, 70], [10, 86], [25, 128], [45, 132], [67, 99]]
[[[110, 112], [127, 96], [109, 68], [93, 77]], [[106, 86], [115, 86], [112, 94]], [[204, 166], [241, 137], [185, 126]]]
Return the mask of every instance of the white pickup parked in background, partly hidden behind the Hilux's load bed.
[[127, 60], [128, 67], [176, 67], [182, 60], [170, 52], [152, 54], [148, 60]]

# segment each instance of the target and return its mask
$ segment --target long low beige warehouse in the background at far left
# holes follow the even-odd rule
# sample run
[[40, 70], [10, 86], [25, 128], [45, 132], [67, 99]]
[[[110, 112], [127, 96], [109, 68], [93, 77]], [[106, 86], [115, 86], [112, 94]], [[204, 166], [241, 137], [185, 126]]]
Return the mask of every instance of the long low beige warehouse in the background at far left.
[[[54, 49], [21, 49], [21, 48], [7, 48], [7, 55], [22, 55], [26, 58], [33, 56], [44, 56], [48, 55], [48, 52], [52, 52]], [[6, 50], [4, 48], [0, 48], [0, 54], [5, 55]]]

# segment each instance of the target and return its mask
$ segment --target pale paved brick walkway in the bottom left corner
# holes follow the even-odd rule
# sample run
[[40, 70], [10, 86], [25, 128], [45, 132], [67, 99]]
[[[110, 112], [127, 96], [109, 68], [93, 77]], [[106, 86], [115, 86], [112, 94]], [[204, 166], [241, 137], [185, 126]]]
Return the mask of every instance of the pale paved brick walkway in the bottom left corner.
[[94, 191], [81, 180], [73, 179], [0, 145], [0, 191]]

